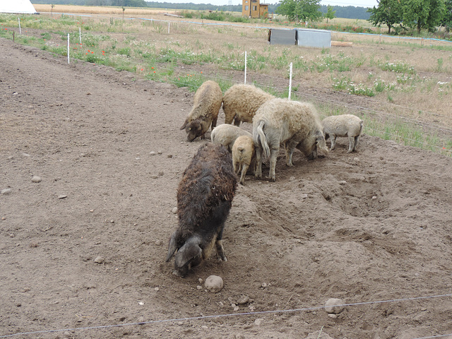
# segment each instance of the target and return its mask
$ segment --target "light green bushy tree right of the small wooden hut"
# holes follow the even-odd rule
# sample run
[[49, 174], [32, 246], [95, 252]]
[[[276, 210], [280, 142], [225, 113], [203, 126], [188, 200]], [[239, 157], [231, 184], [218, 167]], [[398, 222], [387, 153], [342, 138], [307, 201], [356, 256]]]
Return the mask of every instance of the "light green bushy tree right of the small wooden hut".
[[321, 18], [320, 0], [281, 0], [276, 13], [289, 20], [316, 21]]

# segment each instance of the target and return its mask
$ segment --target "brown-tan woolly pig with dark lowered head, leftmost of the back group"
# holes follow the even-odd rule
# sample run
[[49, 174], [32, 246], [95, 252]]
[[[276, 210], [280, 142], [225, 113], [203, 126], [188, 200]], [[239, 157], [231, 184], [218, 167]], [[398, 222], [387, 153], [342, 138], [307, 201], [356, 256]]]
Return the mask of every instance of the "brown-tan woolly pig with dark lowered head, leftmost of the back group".
[[212, 129], [217, 126], [221, 102], [222, 91], [215, 81], [206, 81], [196, 90], [191, 112], [181, 127], [185, 129], [188, 141], [194, 141], [198, 136], [205, 138], [210, 125]]

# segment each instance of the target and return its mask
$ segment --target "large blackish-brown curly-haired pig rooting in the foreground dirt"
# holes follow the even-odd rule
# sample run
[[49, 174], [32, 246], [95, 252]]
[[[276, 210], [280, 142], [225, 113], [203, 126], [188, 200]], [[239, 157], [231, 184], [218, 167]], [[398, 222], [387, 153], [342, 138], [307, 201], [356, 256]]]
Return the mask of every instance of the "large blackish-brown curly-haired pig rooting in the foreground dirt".
[[174, 274], [182, 278], [206, 260], [215, 245], [227, 261], [222, 232], [237, 188], [231, 154], [223, 145], [206, 143], [186, 167], [177, 189], [179, 227], [169, 240], [166, 261], [174, 252]]

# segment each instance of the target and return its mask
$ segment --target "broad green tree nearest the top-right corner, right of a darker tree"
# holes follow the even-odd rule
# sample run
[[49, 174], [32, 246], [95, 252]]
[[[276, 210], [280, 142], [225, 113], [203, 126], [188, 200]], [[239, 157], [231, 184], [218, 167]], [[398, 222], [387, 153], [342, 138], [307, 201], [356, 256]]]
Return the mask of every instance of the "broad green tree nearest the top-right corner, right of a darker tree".
[[444, 0], [405, 0], [403, 23], [408, 27], [416, 28], [418, 34], [422, 28], [434, 32], [445, 14]]

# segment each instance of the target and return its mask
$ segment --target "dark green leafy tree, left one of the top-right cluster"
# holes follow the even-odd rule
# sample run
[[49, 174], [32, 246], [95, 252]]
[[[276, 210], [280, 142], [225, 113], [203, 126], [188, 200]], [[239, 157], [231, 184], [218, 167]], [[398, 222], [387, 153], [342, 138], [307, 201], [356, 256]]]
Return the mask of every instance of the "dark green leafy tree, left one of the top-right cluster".
[[369, 8], [367, 11], [371, 13], [369, 22], [374, 26], [381, 27], [381, 25], [388, 26], [388, 34], [391, 34], [391, 28], [395, 23], [400, 23], [403, 18], [403, 6], [400, 0], [380, 0], [377, 2], [377, 8]]

